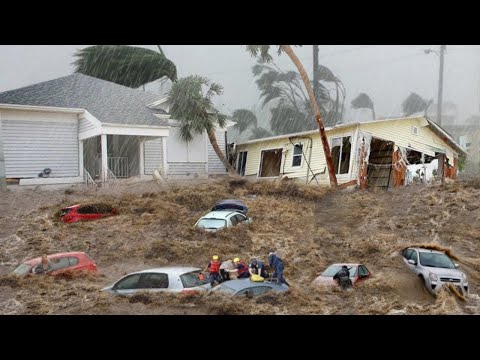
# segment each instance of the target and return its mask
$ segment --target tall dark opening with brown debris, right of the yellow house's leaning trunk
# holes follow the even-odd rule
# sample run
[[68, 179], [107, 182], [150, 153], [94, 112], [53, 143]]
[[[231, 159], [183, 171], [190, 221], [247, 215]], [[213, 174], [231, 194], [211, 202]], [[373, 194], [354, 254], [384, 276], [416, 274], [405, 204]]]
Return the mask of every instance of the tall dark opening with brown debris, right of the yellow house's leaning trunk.
[[392, 141], [372, 138], [368, 159], [367, 186], [388, 189], [392, 184]]

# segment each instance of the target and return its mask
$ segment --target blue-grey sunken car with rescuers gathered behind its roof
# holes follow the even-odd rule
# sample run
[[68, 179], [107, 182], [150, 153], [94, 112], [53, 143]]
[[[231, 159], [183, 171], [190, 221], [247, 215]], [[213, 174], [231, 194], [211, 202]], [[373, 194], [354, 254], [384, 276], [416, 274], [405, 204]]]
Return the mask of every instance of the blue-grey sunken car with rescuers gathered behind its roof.
[[225, 281], [212, 289], [212, 292], [221, 292], [231, 296], [255, 297], [267, 292], [286, 292], [289, 287], [277, 282], [255, 282], [250, 279]]

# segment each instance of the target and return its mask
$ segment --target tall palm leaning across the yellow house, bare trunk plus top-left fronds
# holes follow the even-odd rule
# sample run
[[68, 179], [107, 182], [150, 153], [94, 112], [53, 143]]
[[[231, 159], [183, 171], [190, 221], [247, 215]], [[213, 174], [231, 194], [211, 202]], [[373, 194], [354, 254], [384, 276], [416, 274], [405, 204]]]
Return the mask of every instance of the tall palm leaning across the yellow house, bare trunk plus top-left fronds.
[[[246, 49], [252, 56], [260, 56], [260, 58], [265, 62], [272, 61], [272, 56], [269, 54], [270, 45], [246, 45]], [[313, 93], [313, 88], [310, 83], [310, 79], [308, 78], [308, 74], [305, 71], [302, 63], [298, 59], [297, 55], [293, 51], [290, 45], [278, 45], [278, 54], [280, 55], [282, 52], [286, 53], [288, 57], [293, 61], [295, 66], [297, 67], [298, 72], [300, 73], [305, 88], [308, 93], [308, 97], [310, 99], [310, 104], [313, 108], [313, 113], [315, 115], [315, 121], [317, 122], [318, 129], [320, 132], [320, 138], [322, 139], [323, 144], [323, 151], [325, 153], [325, 159], [327, 160], [327, 167], [328, 167], [328, 174], [330, 177], [330, 186], [332, 188], [337, 187], [337, 177], [335, 175], [335, 169], [333, 165], [332, 154], [330, 152], [330, 145], [328, 143], [327, 136], [325, 134], [325, 126], [323, 125], [322, 115], [320, 113], [320, 109], [318, 107], [317, 101], [315, 100], [315, 95]]]

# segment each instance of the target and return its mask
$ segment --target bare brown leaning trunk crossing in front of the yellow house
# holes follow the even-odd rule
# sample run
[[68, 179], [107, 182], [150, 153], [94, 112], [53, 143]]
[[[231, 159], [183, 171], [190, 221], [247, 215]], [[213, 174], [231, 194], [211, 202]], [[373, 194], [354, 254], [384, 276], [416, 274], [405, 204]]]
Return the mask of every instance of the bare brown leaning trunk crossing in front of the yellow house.
[[320, 131], [320, 138], [322, 139], [323, 144], [323, 152], [325, 153], [325, 159], [327, 160], [327, 167], [328, 167], [328, 175], [330, 177], [330, 186], [332, 188], [336, 188], [337, 183], [337, 176], [335, 175], [335, 168], [333, 164], [332, 154], [330, 152], [330, 145], [328, 144], [328, 139], [325, 134], [325, 126], [323, 125], [322, 115], [320, 114], [320, 109], [318, 108], [317, 101], [315, 100], [315, 95], [313, 93], [312, 84], [308, 78], [307, 72], [303, 67], [302, 63], [300, 62], [297, 55], [293, 51], [290, 45], [280, 45], [282, 50], [290, 57], [293, 61], [295, 66], [298, 69], [298, 72], [302, 76], [303, 83], [305, 84], [305, 88], [307, 89], [308, 97], [310, 98], [310, 103], [313, 107], [313, 113], [315, 114], [315, 121], [317, 122], [318, 129]]

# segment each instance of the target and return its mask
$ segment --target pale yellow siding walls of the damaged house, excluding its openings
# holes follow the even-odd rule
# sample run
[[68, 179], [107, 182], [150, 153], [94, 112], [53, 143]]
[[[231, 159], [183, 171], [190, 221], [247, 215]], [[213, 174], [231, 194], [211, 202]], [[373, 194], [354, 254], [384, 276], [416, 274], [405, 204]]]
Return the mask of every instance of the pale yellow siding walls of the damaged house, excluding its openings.
[[[450, 163], [454, 163], [454, 157], [457, 156], [455, 151], [440, 137], [438, 137], [429, 127], [425, 119], [406, 119], [399, 121], [385, 121], [385, 122], [372, 122], [360, 125], [346, 126], [339, 129], [327, 130], [327, 138], [332, 144], [332, 138], [340, 136], [352, 136], [352, 153], [350, 156], [350, 171], [348, 174], [337, 175], [339, 184], [347, 183], [351, 180], [357, 179], [358, 175], [358, 142], [361, 133], [367, 134], [367, 137], [373, 136], [384, 140], [393, 141], [395, 145], [401, 147], [410, 147], [415, 150], [427, 153], [435, 154], [435, 151], [445, 151]], [[411, 127], [418, 128], [418, 135], [412, 133]], [[292, 139], [293, 143], [303, 143], [304, 153], [307, 159], [310, 158], [310, 167], [314, 174], [318, 174], [316, 178], [321, 185], [329, 184], [329, 176], [327, 170], [327, 163], [323, 152], [323, 145], [318, 132], [314, 132], [309, 135], [303, 135], [302, 137], [309, 137], [311, 142], [311, 155], [309, 149], [309, 141], [306, 139]], [[307, 170], [308, 166], [305, 159], [302, 158], [302, 165], [300, 167], [292, 167], [292, 155], [293, 145], [289, 142], [288, 137], [257, 142], [252, 144], [239, 144], [237, 146], [237, 153], [240, 151], [247, 151], [247, 164], [245, 169], [245, 176], [257, 177], [261, 152], [262, 150], [270, 149], [284, 149], [282, 164], [280, 173], [288, 176], [289, 178], [298, 179], [304, 182], [317, 183], [312, 180], [312, 172]], [[394, 149], [396, 150], [396, 148]]]

